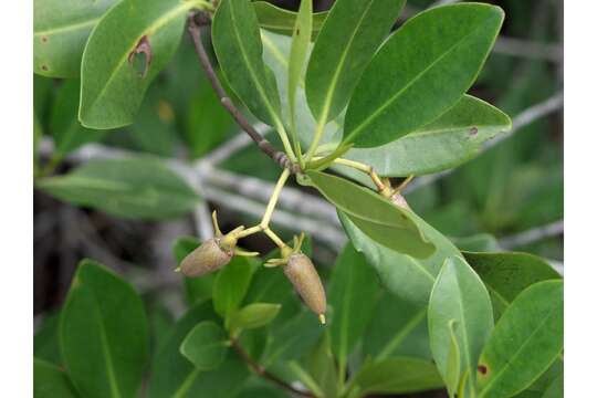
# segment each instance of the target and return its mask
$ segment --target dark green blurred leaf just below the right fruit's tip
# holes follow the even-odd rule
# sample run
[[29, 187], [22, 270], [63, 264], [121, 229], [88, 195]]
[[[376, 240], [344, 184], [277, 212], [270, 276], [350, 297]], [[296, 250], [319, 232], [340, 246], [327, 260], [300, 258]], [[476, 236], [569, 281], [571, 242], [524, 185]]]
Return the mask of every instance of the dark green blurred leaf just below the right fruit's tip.
[[323, 332], [324, 326], [320, 324], [317, 316], [303, 310], [292, 320], [272, 327], [262, 365], [269, 368], [277, 362], [303, 356], [317, 343]]

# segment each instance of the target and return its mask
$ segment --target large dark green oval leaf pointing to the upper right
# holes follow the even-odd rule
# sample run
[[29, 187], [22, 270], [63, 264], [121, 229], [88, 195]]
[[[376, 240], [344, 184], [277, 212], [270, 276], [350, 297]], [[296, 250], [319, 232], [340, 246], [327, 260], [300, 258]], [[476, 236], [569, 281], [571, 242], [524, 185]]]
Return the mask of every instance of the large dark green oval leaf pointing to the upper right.
[[380, 146], [452, 107], [479, 74], [503, 18], [498, 7], [463, 3], [431, 8], [407, 21], [363, 73], [343, 142]]

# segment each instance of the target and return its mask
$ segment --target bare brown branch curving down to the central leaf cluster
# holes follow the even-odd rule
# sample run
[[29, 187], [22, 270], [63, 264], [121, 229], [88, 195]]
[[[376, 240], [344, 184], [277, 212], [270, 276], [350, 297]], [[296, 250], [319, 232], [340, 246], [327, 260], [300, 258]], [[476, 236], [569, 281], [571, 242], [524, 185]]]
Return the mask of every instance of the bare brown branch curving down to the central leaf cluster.
[[242, 113], [234, 106], [226, 91], [223, 90], [220, 80], [218, 78], [218, 75], [216, 74], [216, 71], [213, 71], [213, 66], [211, 65], [211, 62], [209, 61], [209, 55], [206, 52], [206, 49], [203, 48], [203, 42], [201, 41], [201, 25], [209, 24], [209, 18], [201, 12], [192, 13], [189, 15], [188, 19], [188, 29], [189, 33], [192, 39], [192, 43], [195, 45], [195, 51], [197, 52], [197, 56], [199, 57], [199, 63], [201, 64], [201, 67], [206, 72], [209, 82], [211, 83], [211, 86], [213, 90], [216, 90], [216, 94], [220, 98], [220, 103], [222, 106], [232, 115], [234, 121], [238, 123], [238, 125], [251, 137], [251, 139], [258, 145], [258, 147], [263, 151], [265, 155], [268, 155], [270, 158], [272, 158], [276, 164], [279, 164], [283, 168], [287, 168], [292, 172], [296, 174], [300, 171], [298, 165], [292, 163], [286, 154], [283, 151], [280, 151], [275, 149], [275, 147], [261, 134], [259, 134], [253, 126], [247, 121], [247, 118], [242, 115]]

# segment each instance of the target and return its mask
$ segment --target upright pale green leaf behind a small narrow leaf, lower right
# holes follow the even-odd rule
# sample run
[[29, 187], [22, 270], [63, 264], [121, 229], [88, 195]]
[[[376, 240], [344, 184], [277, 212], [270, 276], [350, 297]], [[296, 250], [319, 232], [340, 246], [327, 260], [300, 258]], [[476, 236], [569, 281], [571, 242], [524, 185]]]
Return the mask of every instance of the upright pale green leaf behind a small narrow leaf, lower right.
[[[448, 383], [450, 324], [461, 352], [461, 369], [476, 373], [476, 363], [493, 328], [491, 301], [481, 279], [461, 258], [450, 258], [442, 266], [429, 298], [428, 325], [431, 352], [442, 378]], [[459, 377], [460, 379], [460, 377]], [[474, 378], [469, 377], [470, 386]]]

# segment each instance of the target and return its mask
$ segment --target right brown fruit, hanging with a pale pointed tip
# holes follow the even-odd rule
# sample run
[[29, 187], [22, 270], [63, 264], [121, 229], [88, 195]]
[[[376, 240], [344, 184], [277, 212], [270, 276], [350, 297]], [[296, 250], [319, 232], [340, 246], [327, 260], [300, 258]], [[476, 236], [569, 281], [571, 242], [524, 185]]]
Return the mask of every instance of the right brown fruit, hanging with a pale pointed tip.
[[325, 291], [311, 259], [303, 253], [291, 254], [283, 270], [305, 304], [311, 311], [320, 315], [320, 318], [324, 322], [323, 320], [325, 317], [323, 315], [326, 308]]

